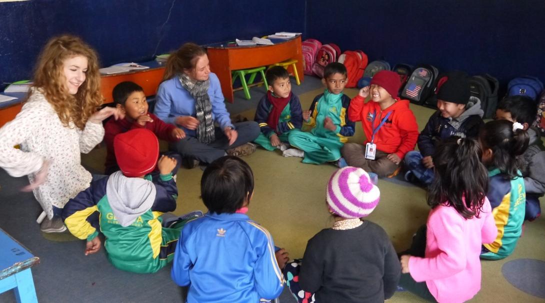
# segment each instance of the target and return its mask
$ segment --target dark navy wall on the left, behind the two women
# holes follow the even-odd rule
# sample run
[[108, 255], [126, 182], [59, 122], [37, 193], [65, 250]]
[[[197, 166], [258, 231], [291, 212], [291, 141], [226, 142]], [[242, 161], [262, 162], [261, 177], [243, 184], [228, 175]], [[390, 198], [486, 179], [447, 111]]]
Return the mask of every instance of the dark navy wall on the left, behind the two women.
[[304, 15], [305, 2], [293, 0], [274, 5], [248, 0], [0, 2], [0, 84], [30, 78], [41, 47], [62, 33], [82, 37], [98, 51], [101, 65], [109, 66], [149, 60], [187, 41], [302, 32]]

